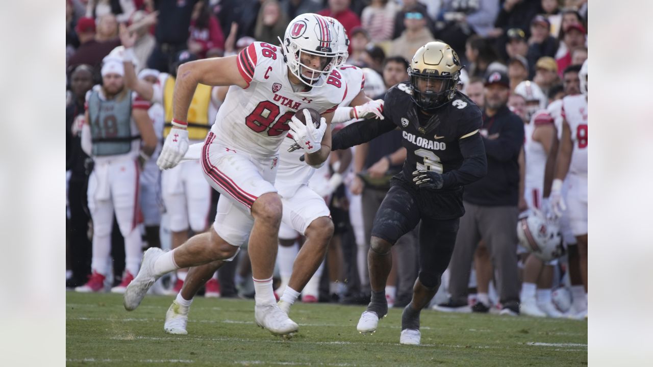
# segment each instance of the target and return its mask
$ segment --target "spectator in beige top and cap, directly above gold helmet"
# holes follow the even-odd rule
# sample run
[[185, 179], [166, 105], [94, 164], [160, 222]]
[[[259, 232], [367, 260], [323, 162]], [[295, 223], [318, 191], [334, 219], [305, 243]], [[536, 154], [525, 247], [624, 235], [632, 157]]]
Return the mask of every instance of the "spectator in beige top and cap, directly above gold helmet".
[[398, 39], [392, 41], [390, 50], [392, 54], [410, 60], [418, 48], [436, 39], [433, 38], [431, 31], [426, 28], [426, 11], [421, 7], [408, 9], [404, 15], [404, 25], [406, 29]]

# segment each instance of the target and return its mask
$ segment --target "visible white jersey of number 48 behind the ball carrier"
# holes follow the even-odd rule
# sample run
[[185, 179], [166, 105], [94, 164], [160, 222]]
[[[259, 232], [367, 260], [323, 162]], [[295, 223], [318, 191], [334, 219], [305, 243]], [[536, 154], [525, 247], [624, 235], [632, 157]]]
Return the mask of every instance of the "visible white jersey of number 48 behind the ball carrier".
[[[338, 70], [347, 86], [347, 95], [339, 106], [349, 106], [351, 101], [362, 90], [365, 78], [362, 70], [355, 66], [343, 65], [343, 67]], [[290, 148], [293, 143], [295, 143], [293, 138], [285, 138], [283, 139], [283, 142], [281, 142], [281, 148], [279, 148], [280, 162], [274, 187], [279, 190], [279, 195], [283, 197], [293, 196], [301, 185], [308, 184], [311, 176], [313, 176], [313, 172], [315, 172], [315, 168], [299, 160], [300, 157], [304, 155], [303, 149], [298, 149], [290, 153], [288, 152], [288, 148]]]

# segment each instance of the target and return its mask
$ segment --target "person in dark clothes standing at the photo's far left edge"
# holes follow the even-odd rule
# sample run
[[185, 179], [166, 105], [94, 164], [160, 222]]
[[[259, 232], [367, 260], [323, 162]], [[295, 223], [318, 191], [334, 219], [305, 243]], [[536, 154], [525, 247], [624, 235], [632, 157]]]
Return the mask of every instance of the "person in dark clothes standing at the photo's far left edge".
[[71, 74], [71, 93], [66, 106], [66, 171], [70, 174], [67, 199], [70, 208], [69, 248], [66, 251], [67, 269], [72, 270], [66, 287], [86, 283], [91, 274], [91, 241], [88, 238], [89, 220], [86, 205], [88, 172], [85, 163], [88, 155], [82, 150], [80, 129], [84, 123], [84, 99], [93, 88], [93, 69], [79, 65]]

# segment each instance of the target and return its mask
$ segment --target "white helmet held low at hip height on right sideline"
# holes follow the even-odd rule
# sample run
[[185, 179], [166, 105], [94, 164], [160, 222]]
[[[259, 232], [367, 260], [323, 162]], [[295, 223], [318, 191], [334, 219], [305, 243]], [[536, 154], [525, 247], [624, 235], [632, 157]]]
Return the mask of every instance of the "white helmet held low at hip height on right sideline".
[[517, 221], [519, 244], [541, 261], [551, 261], [564, 254], [560, 227], [539, 210], [529, 210]]

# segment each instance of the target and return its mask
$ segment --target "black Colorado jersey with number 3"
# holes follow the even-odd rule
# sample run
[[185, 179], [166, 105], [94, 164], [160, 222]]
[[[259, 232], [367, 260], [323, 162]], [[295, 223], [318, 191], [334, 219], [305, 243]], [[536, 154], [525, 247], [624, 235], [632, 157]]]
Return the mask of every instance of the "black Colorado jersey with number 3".
[[460, 168], [463, 157], [459, 140], [479, 133], [481, 110], [466, 95], [456, 91], [451, 103], [426, 115], [411, 100], [409, 82], [391, 88], [385, 96], [385, 118], [402, 130], [402, 145], [407, 150], [404, 177], [414, 170], [446, 173]]

